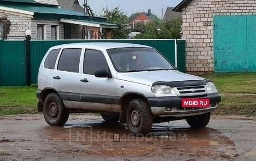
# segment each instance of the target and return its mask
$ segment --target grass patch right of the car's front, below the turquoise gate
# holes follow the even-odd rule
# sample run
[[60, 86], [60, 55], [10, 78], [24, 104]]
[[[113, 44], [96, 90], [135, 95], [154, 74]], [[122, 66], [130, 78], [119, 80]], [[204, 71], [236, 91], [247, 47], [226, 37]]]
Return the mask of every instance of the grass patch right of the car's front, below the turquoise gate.
[[256, 116], [256, 73], [221, 73], [203, 77], [211, 79], [222, 94], [220, 108], [214, 114]]

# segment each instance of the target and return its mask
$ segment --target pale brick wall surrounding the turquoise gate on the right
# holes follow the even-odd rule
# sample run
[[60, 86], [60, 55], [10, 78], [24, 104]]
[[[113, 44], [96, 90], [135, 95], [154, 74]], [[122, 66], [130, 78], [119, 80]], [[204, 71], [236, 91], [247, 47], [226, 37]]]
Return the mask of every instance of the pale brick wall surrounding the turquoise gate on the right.
[[213, 72], [213, 16], [256, 13], [254, 0], [193, 0], [182, 10], [186, 71]]

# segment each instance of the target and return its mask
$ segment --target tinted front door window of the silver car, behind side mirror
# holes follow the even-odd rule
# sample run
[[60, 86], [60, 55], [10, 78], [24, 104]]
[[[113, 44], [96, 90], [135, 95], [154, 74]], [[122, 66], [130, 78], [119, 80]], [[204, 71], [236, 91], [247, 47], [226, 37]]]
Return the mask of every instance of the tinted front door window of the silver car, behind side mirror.
[[97, 70], [108, 70], [108, 63], [104, 54], [98, 50], [85, 50], [84, 55], [84, 73], [94, 75]]

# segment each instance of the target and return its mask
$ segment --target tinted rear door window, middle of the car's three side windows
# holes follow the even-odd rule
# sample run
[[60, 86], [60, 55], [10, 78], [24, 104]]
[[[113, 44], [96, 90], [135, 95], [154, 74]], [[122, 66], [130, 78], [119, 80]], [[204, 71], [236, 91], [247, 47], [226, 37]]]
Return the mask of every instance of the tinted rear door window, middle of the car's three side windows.
[[58, 62], [58, 70], [78, 73], [81, 50], [63, 49]]

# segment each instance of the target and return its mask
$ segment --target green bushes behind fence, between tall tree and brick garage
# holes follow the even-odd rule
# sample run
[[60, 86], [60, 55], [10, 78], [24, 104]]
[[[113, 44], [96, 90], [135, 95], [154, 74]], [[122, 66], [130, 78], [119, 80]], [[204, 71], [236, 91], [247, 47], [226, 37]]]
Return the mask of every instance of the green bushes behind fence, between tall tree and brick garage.
[[141, 34], [136, 35], [135, 39], [181, 39], [181, 25], [182, 19], [162, 23], [152, 21], [143, 26]]

